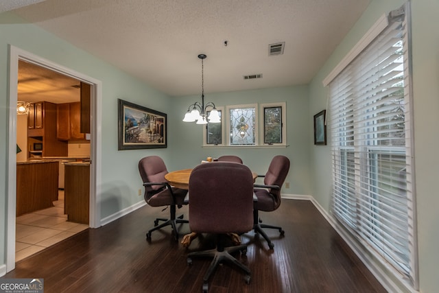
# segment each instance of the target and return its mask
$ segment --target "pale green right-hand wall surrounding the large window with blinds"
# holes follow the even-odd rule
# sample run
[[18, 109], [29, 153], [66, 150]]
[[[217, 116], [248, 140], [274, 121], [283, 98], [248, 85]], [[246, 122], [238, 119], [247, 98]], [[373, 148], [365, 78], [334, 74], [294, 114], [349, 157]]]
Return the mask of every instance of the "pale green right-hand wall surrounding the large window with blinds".
[[[374, 0], [355, 27], [344, 38], [309, 86], [310, 115], [326, 107], [327, 91], [322, 80], [364, 36], [379, 17], [399, 8], [405, 1]], [[439, 1], [412, 1], [412, 56], [414, 91], [414, 150], [417, 202], [420, 291], [438, 292], [439, 197], [436, 180], [439, 156]], [[311, 128], [310, 130], [311, 131]], [[319, 178], [311, 194], [329, 212], [331, 202], [330, 146], [311, 148], [311, 178]]]

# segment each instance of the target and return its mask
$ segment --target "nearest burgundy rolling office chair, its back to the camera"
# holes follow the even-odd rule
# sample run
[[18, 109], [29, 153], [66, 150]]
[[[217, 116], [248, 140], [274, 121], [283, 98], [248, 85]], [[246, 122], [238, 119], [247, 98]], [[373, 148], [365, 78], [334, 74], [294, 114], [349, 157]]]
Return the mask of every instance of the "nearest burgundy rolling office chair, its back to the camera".
[[250, 269], [230, 255], [247, 246], [226, 245], [227, 233], [246, 233], [253, 226], [253, 177], [247, 166], [232, 162], [201, 164], [192, 170], [189, 177], [189, 226], [195, 233], [216, 235], [216, 248], [197, 251], [187, 255], [187, 263], [192, 257], [213, 257], [213, 261], [203, 277], [203, 292], [209, 289], [209, 277], [219, 263], [229, 261], [246, 272], [246, 283], [250, 283]]

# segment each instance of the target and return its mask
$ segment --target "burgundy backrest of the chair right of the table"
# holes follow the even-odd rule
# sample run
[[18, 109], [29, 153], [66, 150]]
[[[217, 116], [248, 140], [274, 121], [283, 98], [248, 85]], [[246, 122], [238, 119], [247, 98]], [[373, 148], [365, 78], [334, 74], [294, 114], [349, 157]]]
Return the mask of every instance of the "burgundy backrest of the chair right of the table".
[[[289, 172], [289, 159], [286, 156], [274, 156], [268, 171], [263, 179], [264, 185], [278, 185], [282, 189]], [[274, 196], [274, 205], [277, 207], [281, 204], [281, 189], [269, 189], [268, 192]]]

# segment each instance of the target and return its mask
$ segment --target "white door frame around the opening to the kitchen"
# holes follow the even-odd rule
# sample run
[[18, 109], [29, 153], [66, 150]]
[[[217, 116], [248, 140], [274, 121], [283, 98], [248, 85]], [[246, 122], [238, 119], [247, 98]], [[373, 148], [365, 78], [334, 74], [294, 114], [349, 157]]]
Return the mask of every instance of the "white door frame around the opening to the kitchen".
[[90, 137], [90, 219], [89, 226], [101, 226], [100, 186], [102, 174], [102, 82], [88, 75], [74, 71], [68, 67], [58, 65], [50, 60], [41, 58], [32, 53], [9, 45], [9, 92], [8, 92], [8, 163], [7, 163], [7, 243], [6, 243], [6, 272], [15, 268], [15, 225], [16, 225], [16, 103], [17, 84], [19, 74], [19, 60], [34, 63], [52, 71], [68, 75], [72, 78], [91, 84], [91, 137]]

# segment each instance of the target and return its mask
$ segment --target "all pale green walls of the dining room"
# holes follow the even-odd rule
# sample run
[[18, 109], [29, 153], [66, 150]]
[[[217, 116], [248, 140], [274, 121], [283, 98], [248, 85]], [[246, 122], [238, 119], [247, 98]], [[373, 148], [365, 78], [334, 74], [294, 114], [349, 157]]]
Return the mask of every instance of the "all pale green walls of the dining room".
[[[187, 106], [200, 100], [199, 95], [168, 97], [108, 63], [78, 49], [34, 25], [23, 23], [11, 13], [0, 14], [0, 223], [6, 221], [8, 161], [8, 44], [102, 81], [102, 218], [132, 206], [143, 198], [137, 163], [143, 156], [158, 154], [169, 169], [192, 167], [206, 156], [237, 154], [255, 172], [265, 172], [274, 154], [285, 154], [292, 161], [287, 178], [291, 187], [285, 194], [312, 195], [329, 212], [331, 200], [330, 147], [313, 145], [312, 117], [326, 108], [326, 89], [322, 80], [351, 50], [383, 13], [398, 8], [401, 0], [371, 1], [364, 15], [335, 49], [331, 58], [309, 86], [289, 86], [255, 91], [206, 93], [206, 101], [217, 106], [260, 102], [287, 103], [287, 148], [230, 149], [202, 148], [201, 126], [181, 121]], [[439, 136], [439, 34], [436, 19], [439, 1], [414, 0], [412, 3], [414, 132], [416, 191], [418, 215], [419, 271], [421, 292], [439, 288], [439, 206], [436, 185], [439, 157], [435, 155]], [[293, 65], [292, 65], [293, 66]], [[117, 99], [154, 108], [168, 115], [167, 149], [117, 150]], [[432, 131], [431, 131], [432, 130]], [[329, 137], [330, 139], [330, 137]], [[3, 163], [4, 162], [4, 163]], [[0, 266], [5, 263], [5, 231], [0, 224]]]

